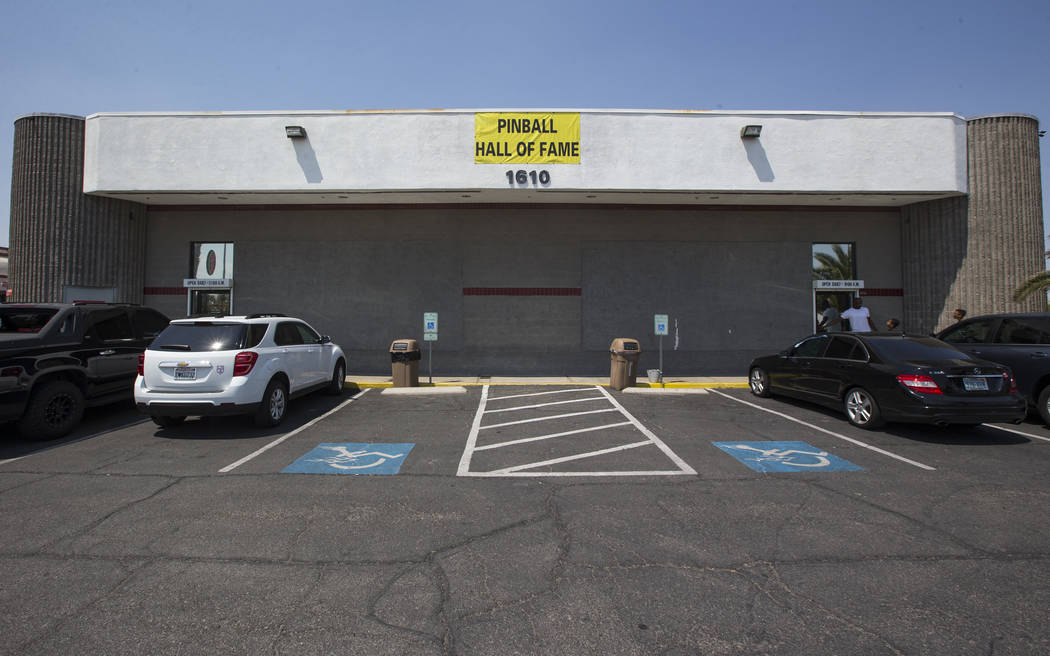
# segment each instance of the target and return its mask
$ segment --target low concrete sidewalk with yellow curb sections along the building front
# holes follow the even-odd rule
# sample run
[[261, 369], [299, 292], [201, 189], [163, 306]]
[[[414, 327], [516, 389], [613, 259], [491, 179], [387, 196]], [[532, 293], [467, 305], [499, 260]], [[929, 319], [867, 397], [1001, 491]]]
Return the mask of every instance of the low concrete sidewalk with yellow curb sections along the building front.
[[[434, 383], [429, 377], [421, 375], [421, 387], [466, 386], [466, 385], [608, 385], [609, 377], [605, 376], [435, 376]], [[393, 387], [391, 376], [359, 376], [346, 375], [346, 385], [357, 387]], [[637, 387], [701, 389], [707, 387], [747, 387], [748, 379], [743, 376], [665, 376], [663, 383], [650, 383], [638, 377]]]

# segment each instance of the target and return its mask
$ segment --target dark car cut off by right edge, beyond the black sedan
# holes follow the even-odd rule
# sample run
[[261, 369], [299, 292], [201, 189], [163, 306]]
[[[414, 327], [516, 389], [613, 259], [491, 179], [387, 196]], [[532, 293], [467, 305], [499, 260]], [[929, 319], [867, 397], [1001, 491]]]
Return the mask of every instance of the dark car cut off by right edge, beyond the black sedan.
[[973, 317], [944, 329], [938, 338], [1010, 367], [1017, 389], [1050, 425], [1050, 313]]

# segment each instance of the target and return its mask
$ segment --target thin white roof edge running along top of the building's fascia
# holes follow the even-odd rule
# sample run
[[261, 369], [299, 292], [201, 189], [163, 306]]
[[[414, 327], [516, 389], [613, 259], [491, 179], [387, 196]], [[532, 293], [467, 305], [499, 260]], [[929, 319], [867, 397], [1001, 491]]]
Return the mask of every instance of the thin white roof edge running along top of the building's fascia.
[[[499, 107], [480, 109], [292, 109], [278, 110], [232, 110], [232, 111], [100, 111], [87, 115], [87, 120], [104, 117], [334, 117], [358, 114], [471, 114], [478, 112], [572, 112], [587, 114], [671, 114], [671, 115], [718, 115], [718, 117], [915, 117], [915, 118], [966, 118], [953, 111], [839, 111], [839, 110], [775, 110], [775, 109], [580, 109], [549, 107]], [[1011, 114], [1016, 115], [1016, 114]], [[1027, 114], [1025, 114], [1027, 115]], [[1032, 117], [1034, 118], [1034, 117]]]

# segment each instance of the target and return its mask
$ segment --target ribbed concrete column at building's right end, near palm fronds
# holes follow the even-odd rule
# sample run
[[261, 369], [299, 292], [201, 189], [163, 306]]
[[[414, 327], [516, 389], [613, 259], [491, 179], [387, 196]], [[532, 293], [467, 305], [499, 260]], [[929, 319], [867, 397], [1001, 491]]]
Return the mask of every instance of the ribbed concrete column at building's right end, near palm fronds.
[[1038, 122], [996, 115], [967, 122], [969, 196], [902, 208], [904, 325], [927, 333], [970, 315], [1046, 311], [1013, 290], [1043, 271]]

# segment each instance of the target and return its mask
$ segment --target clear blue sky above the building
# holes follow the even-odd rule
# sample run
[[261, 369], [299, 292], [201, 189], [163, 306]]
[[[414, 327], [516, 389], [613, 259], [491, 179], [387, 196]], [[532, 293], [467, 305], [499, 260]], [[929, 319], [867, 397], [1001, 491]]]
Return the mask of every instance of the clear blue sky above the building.
[[0, 246], [13, 123], [33, 112], [818, 109], [1050, 123], [1046, 0], [4, 4]]

